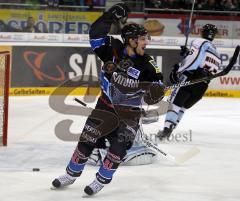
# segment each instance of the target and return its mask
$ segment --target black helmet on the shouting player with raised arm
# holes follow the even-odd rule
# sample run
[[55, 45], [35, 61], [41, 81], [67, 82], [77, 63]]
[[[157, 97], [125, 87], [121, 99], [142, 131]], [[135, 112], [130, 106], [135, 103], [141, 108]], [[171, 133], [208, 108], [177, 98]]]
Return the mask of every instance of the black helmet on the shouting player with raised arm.
[[131, 23], [127, 24], [122, 29], [122, 39], [125, 43], [128, 42], [129, 38], [138, 38], [139, 36], [146, 36], [148, 35], [147, 30], [139, 24]]

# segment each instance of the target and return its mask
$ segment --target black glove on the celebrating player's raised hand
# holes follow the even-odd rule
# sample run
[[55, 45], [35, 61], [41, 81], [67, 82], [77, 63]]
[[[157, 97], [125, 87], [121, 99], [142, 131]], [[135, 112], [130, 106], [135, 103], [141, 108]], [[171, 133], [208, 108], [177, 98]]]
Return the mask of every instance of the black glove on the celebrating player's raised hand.
[[112, 6], [108, 12], [112, 14], [113, 20], [118, 22], [120, 19], [127, 17], [130, 9], [125, 3], [118, 3]]

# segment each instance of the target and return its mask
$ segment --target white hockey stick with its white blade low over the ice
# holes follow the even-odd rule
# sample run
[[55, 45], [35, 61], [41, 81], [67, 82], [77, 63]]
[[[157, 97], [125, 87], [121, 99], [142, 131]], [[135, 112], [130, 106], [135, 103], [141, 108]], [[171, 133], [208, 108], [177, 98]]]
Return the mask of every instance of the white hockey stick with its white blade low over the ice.
[[150, 141], [149, 137], [146, 134], [144, 134], [142, 126], [140, 126], [140, 134], [141, 134], [141, 138], [142, 138], [143, 142], [146, 144], [146, 146], [154, 149], [159, 154], [161, 154], [164, 158], [166, 158], [167, 160], [171, 161], [172, 163], [174, 163], [176, 165], [181, 165], [181, 164], [185, 163], [186, 161], [190, 160], [191, 158], [193, 158], [200, 152], [200, 150], [197, 147], [192, 147], [191, 149], [189, 149], [188, 151], [184, 152], [183, 154], [181, 154], [179, 156], [173, 156], [173, 155], [163, 151], [155, 144], [153, 144]]

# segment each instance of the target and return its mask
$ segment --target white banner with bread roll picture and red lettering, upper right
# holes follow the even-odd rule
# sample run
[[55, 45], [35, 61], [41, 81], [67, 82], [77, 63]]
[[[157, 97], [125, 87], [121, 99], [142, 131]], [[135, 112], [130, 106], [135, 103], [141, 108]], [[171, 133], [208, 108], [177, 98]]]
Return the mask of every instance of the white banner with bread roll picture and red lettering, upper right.
[[[143, 24], [152, 36], [173, 36], [182, 37], [187, 32], [188, 17], [171, 16], [168, 17], [142, 17], [130, 18], [129, 21]], [[239, 39], [240, 25], [239, 21], [216, 19], [202, 19], [201, 16], [193, 17], [190, 37], [200, 37], [201, 29], [205, 24], [214, 24], [218, 28], [218, 39]]]

